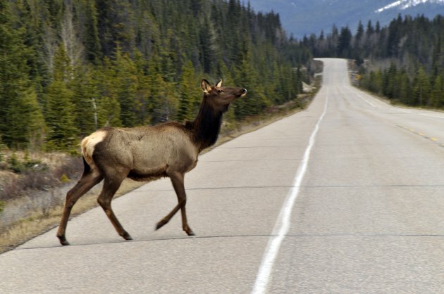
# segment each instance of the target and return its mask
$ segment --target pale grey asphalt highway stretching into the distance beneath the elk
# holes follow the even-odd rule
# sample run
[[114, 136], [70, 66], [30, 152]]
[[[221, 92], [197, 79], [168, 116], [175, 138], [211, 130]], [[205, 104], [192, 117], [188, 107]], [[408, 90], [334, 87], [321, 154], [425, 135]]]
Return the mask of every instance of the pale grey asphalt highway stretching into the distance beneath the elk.
[[395, 108], [323, 59], [311, 106], [0, 255], [0, 293], [444, 293], [444, 113]]

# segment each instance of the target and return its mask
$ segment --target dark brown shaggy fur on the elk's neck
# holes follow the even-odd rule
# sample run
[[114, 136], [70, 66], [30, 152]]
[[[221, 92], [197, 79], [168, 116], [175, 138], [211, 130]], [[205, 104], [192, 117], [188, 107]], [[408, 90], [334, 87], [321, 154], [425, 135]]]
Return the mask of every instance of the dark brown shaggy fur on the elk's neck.
[[206, 101], [203, 101], [195, 120], [187, 122], [187, 127], [193, 131], [199, 152], [216, 143], [221, 131], [222, 115], [223, 113], [206, 106]]

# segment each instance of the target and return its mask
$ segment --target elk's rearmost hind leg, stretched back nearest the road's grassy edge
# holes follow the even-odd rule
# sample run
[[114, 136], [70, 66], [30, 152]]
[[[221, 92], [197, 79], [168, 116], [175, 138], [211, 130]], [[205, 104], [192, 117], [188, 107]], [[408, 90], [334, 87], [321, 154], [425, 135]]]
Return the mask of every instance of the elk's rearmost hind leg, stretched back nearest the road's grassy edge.
[[85, 195], [87, 191], [90, 191], [93, 186], [99, 184], [102, 179], [103, 177], [101, 177], [101, 174], [89, 170], [88, 172], [85, 172], [78, 183], [66, 193], [66, 201], [63, 206], [62, 217], [57, 231], [57, 238], [61, 245], [69, 245], [68, 241], [66, 241], [65, 233], [66, 225], [68, 224], [69, 215], [73, 206], [80, 197]]

